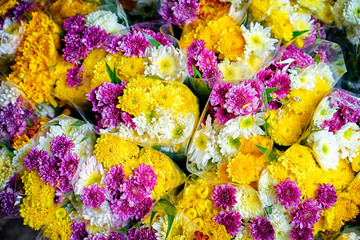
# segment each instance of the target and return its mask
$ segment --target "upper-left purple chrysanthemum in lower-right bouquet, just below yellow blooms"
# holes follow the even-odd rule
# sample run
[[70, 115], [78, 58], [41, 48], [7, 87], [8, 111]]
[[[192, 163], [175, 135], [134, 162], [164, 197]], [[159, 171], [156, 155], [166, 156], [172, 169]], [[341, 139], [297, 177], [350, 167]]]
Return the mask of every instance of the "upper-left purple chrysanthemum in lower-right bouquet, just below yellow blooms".
[[301, 202], [302, 196], [300, 188], [295, 181], [292, 182], [290, 178], [279, 183], [274, 187], [276, 189], [277, 200], [286, 208], [295, 207]]

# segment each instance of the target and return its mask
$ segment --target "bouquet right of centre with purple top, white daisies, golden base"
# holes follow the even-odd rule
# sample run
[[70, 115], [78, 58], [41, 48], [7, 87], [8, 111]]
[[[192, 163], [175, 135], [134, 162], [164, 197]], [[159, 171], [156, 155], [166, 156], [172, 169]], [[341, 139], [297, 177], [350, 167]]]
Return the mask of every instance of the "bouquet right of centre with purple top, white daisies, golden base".
[[[219, 181], [250, 184], [267, 164], [258, 149], [272, 149], [265, 136], [265, 105], [259, 81], [218, 84], [188, 150], [193, 173], [217, 172]], [[258, 146], [258, 147], [257, 147]]]

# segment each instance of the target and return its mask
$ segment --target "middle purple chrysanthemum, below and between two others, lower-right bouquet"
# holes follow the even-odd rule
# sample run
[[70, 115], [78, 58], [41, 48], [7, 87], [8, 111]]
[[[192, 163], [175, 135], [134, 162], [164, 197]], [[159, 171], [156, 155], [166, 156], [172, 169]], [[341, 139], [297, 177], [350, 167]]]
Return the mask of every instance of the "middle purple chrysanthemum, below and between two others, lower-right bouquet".
[[318, 202], [306, 199], [290, 211], [289, 214], [293, 217], [292, 226], [296, 228], [312, 228], [320, 219], [321, 207]]

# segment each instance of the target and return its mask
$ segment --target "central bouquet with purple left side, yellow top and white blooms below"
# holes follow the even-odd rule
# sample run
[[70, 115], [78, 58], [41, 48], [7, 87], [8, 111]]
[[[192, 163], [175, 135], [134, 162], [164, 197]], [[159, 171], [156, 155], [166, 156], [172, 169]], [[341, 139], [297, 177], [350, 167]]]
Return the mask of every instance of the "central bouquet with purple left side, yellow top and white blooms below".
[[141, 145], [181, 146], [199, 116], [194, 94], [183, 84], [154, 78], [105, 82], [88, 95], [98, 129]]

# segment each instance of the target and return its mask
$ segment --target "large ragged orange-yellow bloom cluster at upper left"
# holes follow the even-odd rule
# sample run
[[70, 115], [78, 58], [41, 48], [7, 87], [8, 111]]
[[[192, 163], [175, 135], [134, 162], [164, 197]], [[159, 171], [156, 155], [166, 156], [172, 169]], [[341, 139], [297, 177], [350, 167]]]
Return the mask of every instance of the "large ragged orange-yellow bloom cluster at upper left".
[[32, 12], [31, 17], [7, 80], [18, 84], [34, 102], [56, 106], [53, 67], [59, 57], [61, 29], [43, 12]]

